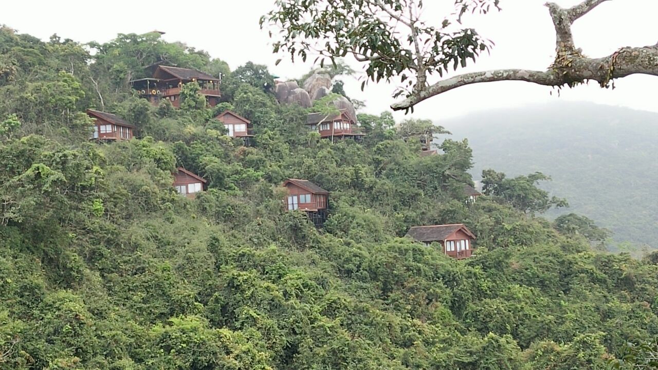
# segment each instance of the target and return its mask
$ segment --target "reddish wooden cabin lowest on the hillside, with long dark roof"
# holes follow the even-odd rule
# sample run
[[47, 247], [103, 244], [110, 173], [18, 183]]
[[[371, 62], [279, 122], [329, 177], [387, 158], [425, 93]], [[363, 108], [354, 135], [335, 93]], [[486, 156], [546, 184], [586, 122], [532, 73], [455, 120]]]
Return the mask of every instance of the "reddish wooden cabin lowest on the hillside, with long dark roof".
[[440, 243], [443, 253], [463, 259], [472, 255], [475, 235], [464, 224], [413, 226], [407, 236], [423, 242], [426, 246]]

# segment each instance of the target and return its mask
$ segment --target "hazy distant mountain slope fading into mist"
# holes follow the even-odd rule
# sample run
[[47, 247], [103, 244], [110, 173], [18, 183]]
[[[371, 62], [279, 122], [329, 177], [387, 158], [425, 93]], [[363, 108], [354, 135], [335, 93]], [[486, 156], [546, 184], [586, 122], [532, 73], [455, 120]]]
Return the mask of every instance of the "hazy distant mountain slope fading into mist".
[[613, 231], [623, 250], [658, 248], [658, 114], [561, 102], [440, 123], [468, 138], [474, 178], [489, 168], [544, 172], [552, 181], [542, 188], [569, 199], [551, 217], [580, 213]]

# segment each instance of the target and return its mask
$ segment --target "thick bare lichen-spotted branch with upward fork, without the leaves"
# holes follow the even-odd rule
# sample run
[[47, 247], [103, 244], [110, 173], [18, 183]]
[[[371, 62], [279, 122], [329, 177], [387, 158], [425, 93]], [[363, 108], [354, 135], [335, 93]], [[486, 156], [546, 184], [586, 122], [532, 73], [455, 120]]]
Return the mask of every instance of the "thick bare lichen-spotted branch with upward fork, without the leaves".
[[525, 81], [545, 86], [576, 86], [588, 81], [596, 81], [601, 87], [608, 87], [615, 78], [631, 74], [658, 76], [658, 44], [647, 47], [622, 47], [603, 58], [588, 58], [576, 49], [571, 33], [575, 20], [589, 13], [605, 1], [584, 0], [582, 3], [564, 9], [555, 3], [546, 3], [555, 26], [555, 62], [545, 71], [509, 69], [474, 72], [447, 78], [419, 91], [414, 90], [407, 99], [391, 105], [394, 111], [409, 109], [429, 97], [459, 88], [461, 86], [496, 81]]

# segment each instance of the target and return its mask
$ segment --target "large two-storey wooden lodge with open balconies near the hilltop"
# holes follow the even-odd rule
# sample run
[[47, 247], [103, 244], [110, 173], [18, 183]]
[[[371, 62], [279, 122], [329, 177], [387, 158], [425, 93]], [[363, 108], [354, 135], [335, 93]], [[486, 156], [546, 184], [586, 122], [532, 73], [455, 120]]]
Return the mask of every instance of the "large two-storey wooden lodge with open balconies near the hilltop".
[[197, 82], [201, 87], [201, 95], [211, 107], [219, 103], [221, 93], [219, 92], [220, 78], [191, 68], [180, 68], [177, 66], [155, 65], [151, 67], [152, 73], [149, 78], [132, 80], [132, 88], [139, 92], [139, 96], [148, 99], [153, 105], [159, 105], [163, 99], [180, 108], [180, 90], [184, 84]]

